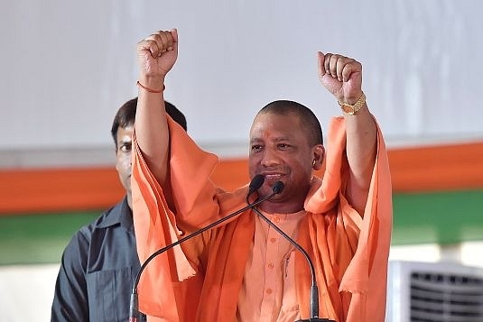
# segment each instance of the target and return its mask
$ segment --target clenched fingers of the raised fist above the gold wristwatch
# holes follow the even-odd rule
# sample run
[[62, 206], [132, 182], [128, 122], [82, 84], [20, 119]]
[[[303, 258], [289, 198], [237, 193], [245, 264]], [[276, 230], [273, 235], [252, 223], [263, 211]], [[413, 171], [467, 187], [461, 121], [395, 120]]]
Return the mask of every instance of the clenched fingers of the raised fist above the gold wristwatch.
[[353, 72], [361, 70], [362, 65], [357, 60], [338, 54], [323, 54], [319, 51], [320, 77], [327, 74], [341, 82], [347, 82]]

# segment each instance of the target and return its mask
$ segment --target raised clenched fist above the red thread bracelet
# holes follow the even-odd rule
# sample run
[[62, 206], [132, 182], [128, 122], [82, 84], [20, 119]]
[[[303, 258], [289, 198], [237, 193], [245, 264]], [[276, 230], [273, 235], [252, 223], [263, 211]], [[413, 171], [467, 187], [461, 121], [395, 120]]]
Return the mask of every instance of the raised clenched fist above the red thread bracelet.
[[154, 32], [137, 43], [139, 80], [146, 87], [157, 88], [178, 58], [178, 31]]

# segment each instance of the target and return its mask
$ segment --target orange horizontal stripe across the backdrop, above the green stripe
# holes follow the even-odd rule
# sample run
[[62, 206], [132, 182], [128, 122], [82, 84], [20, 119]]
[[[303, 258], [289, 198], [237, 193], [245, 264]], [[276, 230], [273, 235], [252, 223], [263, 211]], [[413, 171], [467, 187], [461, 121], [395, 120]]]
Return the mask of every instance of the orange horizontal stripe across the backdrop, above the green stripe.
[[[483, 142], [389, 150], [394, 192], [483, 189]], [[247, 161], [221, 160], [213, 180], [248, 181]], [[124, 195], [112, 167], [0, 170], [0, 215], [105, 209]]]

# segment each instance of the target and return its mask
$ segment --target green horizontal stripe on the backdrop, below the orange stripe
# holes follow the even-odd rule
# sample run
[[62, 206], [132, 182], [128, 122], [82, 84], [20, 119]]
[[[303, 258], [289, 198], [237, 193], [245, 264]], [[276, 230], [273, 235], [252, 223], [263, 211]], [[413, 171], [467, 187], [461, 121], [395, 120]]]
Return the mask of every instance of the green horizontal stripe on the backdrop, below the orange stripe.
[[[395, 194], [393, 244], [483, 240], [483, 189]], [[0, 265], [60, 262], [81, 225], [102, 211], [0, 216]]]

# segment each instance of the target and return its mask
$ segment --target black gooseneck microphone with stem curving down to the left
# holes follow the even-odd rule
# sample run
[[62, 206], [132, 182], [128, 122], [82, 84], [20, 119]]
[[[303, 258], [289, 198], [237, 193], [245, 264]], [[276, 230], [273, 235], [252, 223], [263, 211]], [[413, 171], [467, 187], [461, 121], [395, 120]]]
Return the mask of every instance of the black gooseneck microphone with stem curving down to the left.
[[[260, 187], [262, 187], [262, 185], [264, 184], [264, 180], [265, 180], [265, 177], [261, 174], [257, 174], [250, 182], [249, 186], [248, 186], [248, 193], [246, 194], [246, 199], [248, 199], [256, 190], [260, 189]], [[282, 182], [280, 182], [282, 183]], [[283, 185], [283, 183], [282, 183]], [[157, 250], [156, 252], [152, 253], [143, 263], [143, 265], [141, 265], [141, 269], [137, 272], [137, 275], [135, 277], [135, 283], [133, 285], [133, 290], [131, 292], [131, 299], [130, 299], [130, 302], [129, 302], [129, 322], [137, 322], [137, 317], [139, 315], [139, 301], [138, 301], [138, 293], [137, 293], [137, 286], [139, 284], [139, 280], [141, 279], [141, 275], [145, 269], [145, 267], [147, 266], [147, 264], [151, 261], [153, 261], [153, 258], [156, 257], [157, 255], [159, 254], [162, 254], [170, 249], [172, 249], [174, 246], [178, 245], [178, 244], [181, 244], [183, 242], [186, 242], [187, 240], [189, 240], [190, 238], [196, 236], [196, 235], [200, 235], [201, 233], [204, 233], [206, 232], [207, 230], [211, 229], [211, 228], [214, 228], [215, 226], [227, 221], [228, 219], [230, 218], [233, 218], [234, 216], [237, 216], [239, 214], [241, 214], [242, 212], [246, 211], [247, 209], [249, 208], [254, 208], [256, 205], [258, 204], [261, 204], [262, 202], [264, 202], [265, 200], [268, 200], [270, 198], [273, 198], [274, 195], [277, 195], [279, 194], [280, 192], [282, 192], [283, 190], [283, 187], [282, 189], [280, 188], [277, 188], [275, 189], [275, 186], [274, 186], [274, 189], [273, 189], [273, 192], [264, 197], [264, 198], [259, 198], [259, 199], [256, 199], [255, 202], [253, 204], [250, 204], [248, 203], [248, 205], [246, 207], [243, 207], [241, 209], [238, 209], [237, 211], [235, 211], [234, 213], [228, 215], [228, 216], [224, 216], [223, 218], [220, 218], [218, 219], [217, 221], [201, 228], [200, 230], [197, 230], [195, 231], [194, 233], [190, 234], [190, 235], [187, 235], [181, 239], [179, 239], [178, 241], [172, 243], [172, 244], [168, 244], [166, 246], [164, 246], [163, 248]]]

